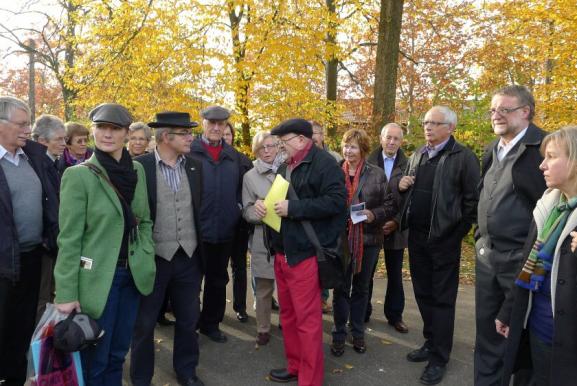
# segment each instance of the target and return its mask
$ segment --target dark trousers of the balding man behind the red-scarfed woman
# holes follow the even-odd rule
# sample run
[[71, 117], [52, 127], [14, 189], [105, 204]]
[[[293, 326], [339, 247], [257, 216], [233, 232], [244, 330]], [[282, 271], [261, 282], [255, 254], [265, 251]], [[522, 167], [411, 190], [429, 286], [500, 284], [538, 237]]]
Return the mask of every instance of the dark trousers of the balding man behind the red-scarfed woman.
[[[387, 269], [387, 289], [385, 293], [384, 313], [389, 323], [394, 324], [403, 319], [405, 309], [405, 290], [403, 289], [403, 252], [404, 249], [384, 248], [385, 267]], [[377, 270], [378, 259], [373, 266], [371, 282], [369, 284], [369, 301], [365, 318], [371, 316], [373, 307], [373, 278]]]

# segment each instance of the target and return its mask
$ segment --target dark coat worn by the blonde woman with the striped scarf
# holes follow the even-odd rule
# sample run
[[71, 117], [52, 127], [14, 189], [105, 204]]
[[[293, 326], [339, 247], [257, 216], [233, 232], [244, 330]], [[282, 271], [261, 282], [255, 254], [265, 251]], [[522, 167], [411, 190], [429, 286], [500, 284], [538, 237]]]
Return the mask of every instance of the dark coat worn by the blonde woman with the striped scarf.
[[[575, 221], [571, 222], [570, 218], [567, 226], [571, 228], [574, 224]], [[577, 230], [577, 227], [573, 230]], [[524, 256], [529, 256], [536, 238], [537, 227], [533, 222], [523, 248]], [[571, 239], [568, 235], [560, 241], [559, 255], [556, 257], [559, 264], [557, 276], [551, 275], [552, 289], [555, 286], [555, 312], [550, 384], [555, 386], [573, 386], [577, 380], [577, 254], [571, 252]], [[514, 285], [511, 301], [497, 315], [497, 319], [509, 325], [503, 360], [503, 386], [509, 385], [516, 369], [531, 367], [528, 331], [524, 329], [529, 298], [530, 291]]]

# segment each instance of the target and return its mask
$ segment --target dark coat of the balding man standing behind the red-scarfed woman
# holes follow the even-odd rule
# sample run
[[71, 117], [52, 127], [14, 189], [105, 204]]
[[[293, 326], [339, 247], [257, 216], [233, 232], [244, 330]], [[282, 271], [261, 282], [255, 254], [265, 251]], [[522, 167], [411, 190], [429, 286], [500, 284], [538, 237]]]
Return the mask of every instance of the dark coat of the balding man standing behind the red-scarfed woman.
[[[384, 169], [385, 164], [383, 160], [383, 149], [381, 147], [374, 150], [367, 162], [377, 165]], [[393, 170], [391, 171], [391, 178], [386, 181], [387, 185], [387, 202], [386, 206], [391, 210], [391, 217], [387, 217], [386, 221], [395, 220], [397, 222], [397, 230], [385, 236], [384, 248], [386, 249], [403, 249], [407, 247], [408, 232], [400, 230], [401, 223], [401, 205], [403, 202], [401, 193], [399, 192], [399, 181], [405, 175], [408, 159], [403, 150], [397, 150], [397, 157], [393, 163]], [[385, 179], [387, 177], [385, 176]]]

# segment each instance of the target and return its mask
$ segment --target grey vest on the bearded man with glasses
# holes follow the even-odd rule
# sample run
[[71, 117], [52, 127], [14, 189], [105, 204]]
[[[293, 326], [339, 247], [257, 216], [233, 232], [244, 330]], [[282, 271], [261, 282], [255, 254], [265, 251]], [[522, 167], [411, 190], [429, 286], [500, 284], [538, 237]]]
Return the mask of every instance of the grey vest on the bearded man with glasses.
[[532, 220], [533, 208], [523, 204], [513, 186], [512, 169], [519, 157], [518, 149], [519, 143], [499, 161], [495, 146], [477, 207], [480, 234], [499, 251], [522, 248]]

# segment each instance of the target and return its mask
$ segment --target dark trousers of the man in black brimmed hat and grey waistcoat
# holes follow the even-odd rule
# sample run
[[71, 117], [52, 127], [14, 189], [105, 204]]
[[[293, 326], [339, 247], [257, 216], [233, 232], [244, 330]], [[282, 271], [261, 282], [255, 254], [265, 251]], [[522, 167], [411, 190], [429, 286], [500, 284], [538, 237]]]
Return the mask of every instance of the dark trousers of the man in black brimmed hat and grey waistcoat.
[[134, 385], [148, 386], [154, 375], [154, 328], [167, 293], [176, 319], [172, 354], [174, 371], [185, 379], [196, 376], [199, 349], [195, 327], [200, 314], [201, 279], [198, 252], [188, 257], [180, 248], [171, 261], [156, 256], [154, 289], [140, 300], [132, 335], [130, 378]]

